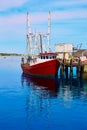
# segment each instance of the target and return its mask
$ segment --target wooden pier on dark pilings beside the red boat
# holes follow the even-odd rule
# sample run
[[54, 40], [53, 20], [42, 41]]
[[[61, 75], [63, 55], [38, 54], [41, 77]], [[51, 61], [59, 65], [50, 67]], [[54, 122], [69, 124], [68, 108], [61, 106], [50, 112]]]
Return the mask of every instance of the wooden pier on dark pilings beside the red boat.
[[75, 67], [76, 69], [76, 76], [78, 78], [82, 78], [84, 74], [84, 63], [82, 63], [80, 60], [77, 62], [73, 62], [72, 59], [70, 62], [66, 60], [60, 61], [60, 77], [66, 76], [68, 79], [69, 77], [73, 77], [73, 68]]

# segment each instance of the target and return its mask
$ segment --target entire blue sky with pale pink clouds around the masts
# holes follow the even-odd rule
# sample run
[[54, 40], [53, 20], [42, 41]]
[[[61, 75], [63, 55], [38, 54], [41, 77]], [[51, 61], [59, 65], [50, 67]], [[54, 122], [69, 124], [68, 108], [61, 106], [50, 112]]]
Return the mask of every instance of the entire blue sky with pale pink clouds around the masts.
[[51, 12], [51, 47], [82, 43], [87, 49], [87, 0], [0, 0], [0, 52], [24, 53], [26, 13], [32, 32], [47, 32]]

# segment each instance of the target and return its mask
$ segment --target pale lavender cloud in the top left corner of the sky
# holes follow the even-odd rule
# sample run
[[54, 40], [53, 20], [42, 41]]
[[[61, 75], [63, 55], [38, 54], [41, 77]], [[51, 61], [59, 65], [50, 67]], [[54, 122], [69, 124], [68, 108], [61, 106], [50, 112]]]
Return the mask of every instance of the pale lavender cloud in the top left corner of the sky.
[[0, 0], [0, 11], [23, 5], [27, 0]]

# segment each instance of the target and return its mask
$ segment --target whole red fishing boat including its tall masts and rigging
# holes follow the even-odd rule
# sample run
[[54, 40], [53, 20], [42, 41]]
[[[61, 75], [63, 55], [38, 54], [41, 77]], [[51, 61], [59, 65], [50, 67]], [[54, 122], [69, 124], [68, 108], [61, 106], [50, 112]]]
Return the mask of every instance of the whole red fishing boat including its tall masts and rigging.
[[[48, 32], [46, 35], [42, 33], [32, 34], [29, 23], [29, 16], [27, 14], [27, 48], [29, 48], [29, 53], [27, 55], [27, 60], [25, 62], [22, 57], [21, 68], [24, 73], [32, 76], [56, 76], [60, 66], [57, 60], [57, 53], [50, 51], [49, 41], [50, 41], [50, 12], [48, 15]], [[47, 38], [47, 43], [45, 49], [42, 42], [43, 38]], [[39, 39], [39, 41], [37, 41]], [[39, 44], [37, 44], [40, 42]], [[35, 54], [35, 47], [38, 48], [38, 54]]]

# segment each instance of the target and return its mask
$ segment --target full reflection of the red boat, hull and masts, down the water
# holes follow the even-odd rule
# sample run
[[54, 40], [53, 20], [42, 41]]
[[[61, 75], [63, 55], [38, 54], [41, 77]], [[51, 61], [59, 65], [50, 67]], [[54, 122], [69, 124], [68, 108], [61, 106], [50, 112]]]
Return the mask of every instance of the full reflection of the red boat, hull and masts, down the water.
[[[59, 82], [58, 79], [37, 78], [22, 74], [22, 87], [28, 88], [26, 97], [26, 114], [28, 129], [49, 129], [51, 100], [57, 98]], [[38, 121], [38, 122], [37, 122]], [[34, 122], [34, 124], [33, 124]]]

